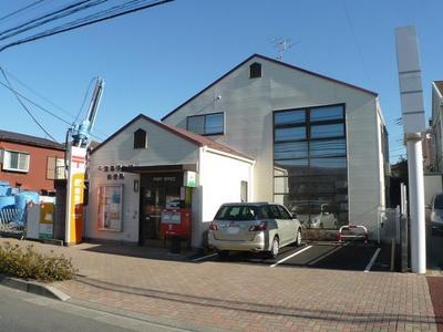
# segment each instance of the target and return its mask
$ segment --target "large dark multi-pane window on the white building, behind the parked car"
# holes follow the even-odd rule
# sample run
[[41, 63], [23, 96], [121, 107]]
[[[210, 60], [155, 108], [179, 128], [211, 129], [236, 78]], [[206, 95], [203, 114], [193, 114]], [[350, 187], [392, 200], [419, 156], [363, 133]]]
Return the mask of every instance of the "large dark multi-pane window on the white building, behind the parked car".
[[344, 105], [274, 112], [274, 194], [308, 228], [348, 224]]

